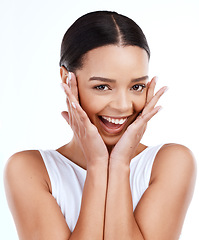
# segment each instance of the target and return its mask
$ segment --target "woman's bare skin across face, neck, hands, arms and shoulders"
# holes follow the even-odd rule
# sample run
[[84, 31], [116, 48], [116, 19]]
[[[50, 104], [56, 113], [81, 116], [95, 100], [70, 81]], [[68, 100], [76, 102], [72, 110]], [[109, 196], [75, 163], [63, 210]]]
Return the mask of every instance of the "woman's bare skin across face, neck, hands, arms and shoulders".
[[[186, 147], [166, 144], [160, 149], [149, 187], [133, 212], [129, 164], [146, 148], [140, 141], [166, 91], [163, 87], [154, 94], [155, 78], [135, 83], [148, 74], [146, 52], [135, 46], [100, 47], [86, 54], [83, 68], [72, 73], [68, 84], [67, 70], [62, 67], [60, 73], [68, 105], [62, 115], [74, 137], [57, 151], [87, 169], [81, 210], [71, 233], [39, 152], [16, 153], [5, 169], [5, 189], [20, 239], [178, 239], [196, 177]], [[89, 81], [94, 76], [98, 79]], [[136, 84], [146, 88], [139, 92]], [[128, 119], [114, 134], [99, 116]]]

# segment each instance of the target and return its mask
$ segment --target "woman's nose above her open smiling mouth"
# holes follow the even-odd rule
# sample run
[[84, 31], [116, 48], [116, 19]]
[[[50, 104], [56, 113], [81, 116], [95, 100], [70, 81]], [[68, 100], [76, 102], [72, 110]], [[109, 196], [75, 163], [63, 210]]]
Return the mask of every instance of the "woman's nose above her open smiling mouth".
[[110, 107], [121, 114], [132, 114], [133, 101], [125, 91], [117, 92], [113, 97]]

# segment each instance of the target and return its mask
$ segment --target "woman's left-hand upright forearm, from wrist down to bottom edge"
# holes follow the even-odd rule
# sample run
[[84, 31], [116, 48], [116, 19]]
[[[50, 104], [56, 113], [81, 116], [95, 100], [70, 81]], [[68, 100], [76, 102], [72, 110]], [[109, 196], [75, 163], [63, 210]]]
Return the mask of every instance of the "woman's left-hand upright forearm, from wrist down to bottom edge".
[[87, 170], [82, 204], [71, 240], [102, 240], [104, 231], [107, 167], [95, 166]]

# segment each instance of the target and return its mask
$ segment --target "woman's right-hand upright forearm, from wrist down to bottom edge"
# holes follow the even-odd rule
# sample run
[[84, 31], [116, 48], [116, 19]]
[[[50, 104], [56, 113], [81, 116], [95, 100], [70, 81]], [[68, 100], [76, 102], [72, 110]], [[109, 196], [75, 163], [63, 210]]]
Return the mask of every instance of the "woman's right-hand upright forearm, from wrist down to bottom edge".
[[109, 167], [105, 214], [105, 240], [143, 240], [135, 221], [130, 189], [130, 168]]

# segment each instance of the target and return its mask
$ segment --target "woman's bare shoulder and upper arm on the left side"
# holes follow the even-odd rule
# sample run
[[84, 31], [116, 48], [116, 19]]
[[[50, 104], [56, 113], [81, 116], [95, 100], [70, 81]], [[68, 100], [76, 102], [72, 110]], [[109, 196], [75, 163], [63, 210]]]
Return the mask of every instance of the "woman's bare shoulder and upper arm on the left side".
[[48, 180], [38, 151], [14, 154], [7, 163], [5, 190], [20, 239], [66, 240], [70, 236]]

